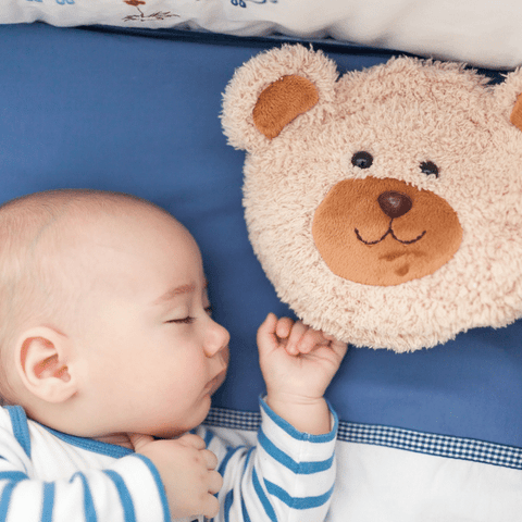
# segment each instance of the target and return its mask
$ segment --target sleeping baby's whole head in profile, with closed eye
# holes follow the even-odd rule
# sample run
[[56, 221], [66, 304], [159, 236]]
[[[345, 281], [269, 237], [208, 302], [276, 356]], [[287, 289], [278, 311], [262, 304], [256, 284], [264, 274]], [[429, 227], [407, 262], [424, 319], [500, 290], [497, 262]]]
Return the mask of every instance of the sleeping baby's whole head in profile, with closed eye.
[[174, 436], [224, 380], [199, 249], [167, 212], [58, 190], [0, 208], [1, 391], [78, 436]]

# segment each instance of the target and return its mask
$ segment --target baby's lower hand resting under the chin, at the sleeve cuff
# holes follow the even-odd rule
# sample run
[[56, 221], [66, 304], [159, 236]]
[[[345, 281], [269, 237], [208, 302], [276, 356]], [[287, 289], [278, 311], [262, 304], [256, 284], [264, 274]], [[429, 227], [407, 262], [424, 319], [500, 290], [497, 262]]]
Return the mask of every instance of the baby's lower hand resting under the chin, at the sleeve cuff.
[[221, 489], [223, 478], [215, 471], [217, 458], [206, 449], [201, 437], [187, 433], [173, 440], [154, 440], [135, 434], [130, 442], [158, 469], [173, 519], [217, 514], [220, 505], [213, 494]]

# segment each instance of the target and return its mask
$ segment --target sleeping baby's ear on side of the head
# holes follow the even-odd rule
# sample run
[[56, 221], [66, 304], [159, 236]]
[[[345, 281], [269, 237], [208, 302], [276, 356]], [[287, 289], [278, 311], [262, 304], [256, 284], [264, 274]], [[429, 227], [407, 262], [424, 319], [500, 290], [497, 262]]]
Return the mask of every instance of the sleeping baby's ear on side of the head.
[[66, 336], [47, 326], [27, 330], [15, 347], [18, 376], [28, 391], [47, 402], [64, 402], [77, 390], [67, 360]]

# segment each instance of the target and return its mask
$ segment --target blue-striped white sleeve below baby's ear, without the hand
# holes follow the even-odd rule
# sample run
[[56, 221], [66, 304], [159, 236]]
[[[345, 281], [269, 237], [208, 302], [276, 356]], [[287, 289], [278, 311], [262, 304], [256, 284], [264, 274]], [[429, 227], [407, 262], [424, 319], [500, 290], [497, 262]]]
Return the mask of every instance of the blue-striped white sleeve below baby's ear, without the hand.
[[146, 457], [132, 453], [104, 470], [42, 481], [35, 476], [28, 437], [21, 438], [28, 435], [24, 424], [10, 424], [2, 411], [0, 522], [170, 521], [163, 485]]

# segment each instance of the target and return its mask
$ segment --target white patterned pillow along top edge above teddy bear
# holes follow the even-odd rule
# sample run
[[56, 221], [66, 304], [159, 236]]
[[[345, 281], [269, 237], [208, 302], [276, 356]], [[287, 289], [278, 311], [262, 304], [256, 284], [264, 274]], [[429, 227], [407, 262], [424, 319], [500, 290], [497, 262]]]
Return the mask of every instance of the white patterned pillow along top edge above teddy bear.
[[522, 65], [519, 0], [1, 0], [0, 21], [332, 37], [475, 66]]

